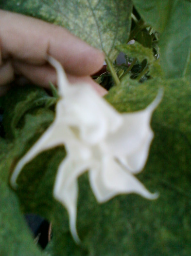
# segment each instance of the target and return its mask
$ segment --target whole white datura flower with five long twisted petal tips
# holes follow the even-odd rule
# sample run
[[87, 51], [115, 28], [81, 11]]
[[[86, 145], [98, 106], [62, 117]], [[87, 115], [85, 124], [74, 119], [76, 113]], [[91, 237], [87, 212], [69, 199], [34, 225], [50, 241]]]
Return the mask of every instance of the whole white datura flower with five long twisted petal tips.
[[153, 139], [150, 120], [161, 95], [145, 109], [120, 114], [86, 83], [69, 84], [61, 64], [48, 57], [57, 71], [60, 99], [56, 116], [34, 146], [21, 158], [11, 177], [40, 152], [65, 145], [67, 156], [58, 167], [53, 195], [68, 210], [71, 234], [76, 242], [77, 179], [88, 170], [90, 186], [98, 202], [123, 193], [137, 193], [154, 199], [134, 176], [145, 165]]

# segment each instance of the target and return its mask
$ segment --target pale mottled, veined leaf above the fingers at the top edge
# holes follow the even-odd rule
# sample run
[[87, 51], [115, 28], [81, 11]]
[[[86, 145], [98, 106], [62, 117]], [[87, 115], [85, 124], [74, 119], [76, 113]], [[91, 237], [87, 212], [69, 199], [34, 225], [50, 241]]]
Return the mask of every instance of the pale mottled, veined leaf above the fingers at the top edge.
[[113, 59], [115, 45], [126, 42], [131, 0], [7, 0], [0, 8], [61, 25]]

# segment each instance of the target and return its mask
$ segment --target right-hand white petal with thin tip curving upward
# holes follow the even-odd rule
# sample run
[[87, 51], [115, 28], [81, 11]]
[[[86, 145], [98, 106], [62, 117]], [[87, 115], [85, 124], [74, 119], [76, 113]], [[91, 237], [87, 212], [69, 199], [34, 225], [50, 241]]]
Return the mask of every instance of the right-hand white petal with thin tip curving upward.
[[151, 116], [161, 98], [159, 93], [144, 110], [122, 114], [122, 126], [105, 140], [104, 151], [118, 158], [133, 173], [144, 167], [148, 157], [153, 139]]

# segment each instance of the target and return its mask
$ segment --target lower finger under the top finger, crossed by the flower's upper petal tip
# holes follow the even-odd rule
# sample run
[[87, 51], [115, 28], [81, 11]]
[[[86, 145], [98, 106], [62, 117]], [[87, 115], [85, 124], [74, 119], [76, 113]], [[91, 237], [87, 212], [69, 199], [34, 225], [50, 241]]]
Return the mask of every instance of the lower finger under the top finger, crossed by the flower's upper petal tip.
[[[50, 88], [50, 81], [56, 84], [56, 72], [50, 65], [34, 66], [32, 64], [24, 64], [23, 62], [14, 61], [13, 62], [17, 74], [30, 79], [36, 85], [43, 86], [45, 88]], [[107, 91], [100, 86], [98, 83], [94, 82], [89, 76], [77, 77], [67, 74], [70, 83], [80, 83], [87, 82], [95, 88], [95, 90], [104, 96]]]

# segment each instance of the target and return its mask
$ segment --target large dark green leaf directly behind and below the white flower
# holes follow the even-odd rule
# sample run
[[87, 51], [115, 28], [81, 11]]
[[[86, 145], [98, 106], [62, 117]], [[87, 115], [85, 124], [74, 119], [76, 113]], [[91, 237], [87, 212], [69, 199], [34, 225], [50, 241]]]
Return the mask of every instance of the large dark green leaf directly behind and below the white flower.
[[[121, 112], [135, 111], [146, 107], [156, 97], [160, 86], [164, 87], [164, 97], [152, 119], [155, 139], [147, 165], [138, 176], [150, 191], [160, 193], [158, 199], [150, 201], [138, 195], [122, 195], [98, 204], [87, 175], [83, 175], [79, 178], [77, 219], [82, 244], [77, 246], [69, 232], [68, 214], [52, 196], [56, 170], [65, 157], [64, 149], [57, 147], [44, 152], [24, 167], [17, 191], [21, 209], [52, 222], [53, 238], [46, 248], [50, 255], [191, 254], [189, 79], [153, 79], [142, 84], [127, 77], [122, 80], [122, 86], [111, 89], [106, 98]], [[29, 138], [34, 136], [35, 127], [39, 127], [41, 110], [39, 106], [19, 119], [17, 131], [20, 136], [17, 133], [13, 148], [18, 149], [20, 137], [24, 148], [34, 143]], [[36, 137], [45, 129], [46, 126], [42, 126]], [[23, 150], [17, 157], [22, 154]]]

